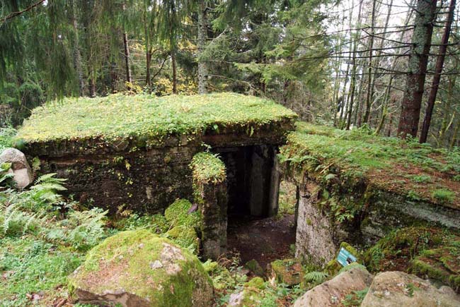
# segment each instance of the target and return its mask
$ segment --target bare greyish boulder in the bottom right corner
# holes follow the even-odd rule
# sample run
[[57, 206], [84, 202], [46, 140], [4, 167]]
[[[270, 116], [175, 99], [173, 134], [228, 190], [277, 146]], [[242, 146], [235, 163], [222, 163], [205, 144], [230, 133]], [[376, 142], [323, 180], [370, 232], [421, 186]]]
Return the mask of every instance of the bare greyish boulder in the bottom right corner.
[[374, 278], [362, 307], [458, 307], [460, 299], [449, 287], [437, 289], [427, 280], [405, 272], [383, 272]]

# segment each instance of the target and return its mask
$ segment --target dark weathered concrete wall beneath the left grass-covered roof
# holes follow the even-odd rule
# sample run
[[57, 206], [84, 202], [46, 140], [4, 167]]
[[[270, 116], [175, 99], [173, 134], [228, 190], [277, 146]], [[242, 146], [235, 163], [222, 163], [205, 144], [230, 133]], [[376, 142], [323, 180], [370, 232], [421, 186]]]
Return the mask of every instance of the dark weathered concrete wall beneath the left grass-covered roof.
[[[179, 143], [180, 144], [180, 143]], [[195, 143], [119, 153], [40, 157], [41, 170], [68, 179], [68, 193], [81, 203], [115, 214], [120, 206], [159, 212], [177, 198], [192, 200], [189, 164]]]

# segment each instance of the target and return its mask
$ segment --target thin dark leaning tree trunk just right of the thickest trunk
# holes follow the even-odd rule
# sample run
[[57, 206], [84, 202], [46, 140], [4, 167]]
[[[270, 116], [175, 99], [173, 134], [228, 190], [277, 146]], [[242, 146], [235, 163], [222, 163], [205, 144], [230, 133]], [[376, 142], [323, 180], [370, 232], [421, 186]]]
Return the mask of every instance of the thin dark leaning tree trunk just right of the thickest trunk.
[[449, 43], [452, 20], [454, 20], [455, 2], [456, 0], [451, 0], [449, 5], [449, 15], [447, 16], [446, 27], [444, 28], [444, 33], [442, 34], [441, 46], [439, 47], [439, 56], [437, 56], [436, 61], [435, 76], [433, 77], [430, 95], [428, 96], [427, 110], [425, 112], [425, 119], [423, 120], [422, 131], [420, 133], [420, 143], [425, 143], [427, 141], [428, 131], [430, 130], [431, 116], [433, 114], [433, 109], [435, 108], [435, 100], [437, 90], [439, 88], [439, 80], [441, 80], [441, 73], [444, 66], [444, 58], [447, 52], [447, 44]]

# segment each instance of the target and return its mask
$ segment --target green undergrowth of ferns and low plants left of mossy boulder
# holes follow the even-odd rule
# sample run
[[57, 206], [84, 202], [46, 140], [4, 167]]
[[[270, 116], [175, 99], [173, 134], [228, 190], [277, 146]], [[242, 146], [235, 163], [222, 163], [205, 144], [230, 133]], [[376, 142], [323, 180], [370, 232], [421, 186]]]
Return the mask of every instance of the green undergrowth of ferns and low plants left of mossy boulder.
[[54, 174], [25, 191], [8, 177], [0, 171], [0, 306], [52, 306], [67, 296], [67, 275], [84, 253], [107, 236], [106, 212], [77, 210]]

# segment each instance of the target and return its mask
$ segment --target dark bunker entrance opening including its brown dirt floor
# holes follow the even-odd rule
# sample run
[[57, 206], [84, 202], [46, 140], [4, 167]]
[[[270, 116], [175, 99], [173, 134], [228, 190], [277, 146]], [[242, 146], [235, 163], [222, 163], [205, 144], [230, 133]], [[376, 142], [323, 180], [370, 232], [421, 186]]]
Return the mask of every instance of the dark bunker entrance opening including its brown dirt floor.
[[[290, 186], [284, 191], [283, 183], [280, 195], [277, 147], [251, 145], [214, 151], [226, 165], [229, 257], [237, 255], [242, 264], [255, 259], [264, 269], [273, 260], [289, 258], [295, 243], [296, 191], [295, 186], [293, 192]], [[289, 212], [284, 201], [287, 196], [294, 201]]]

